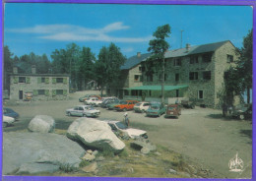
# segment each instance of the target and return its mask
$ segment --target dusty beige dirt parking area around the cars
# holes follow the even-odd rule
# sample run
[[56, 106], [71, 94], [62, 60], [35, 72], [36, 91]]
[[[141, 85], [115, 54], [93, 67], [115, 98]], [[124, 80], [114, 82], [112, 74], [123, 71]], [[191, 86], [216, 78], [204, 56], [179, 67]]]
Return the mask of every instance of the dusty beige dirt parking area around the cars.
[[[5, 102], [21, 116], [14, 126], [4, 131], [23, 131], [33, 116], [46, 114], [56, 121], [56, 129], [68, 129], [76, 117], [68, 117], [65, 110], [82, 104], [78, 98], [89, 91], [70, 94], [69, 100], [42, 102]], [[99, 94], [99, 91], [96, 91]], [[102, 108], [98, 119], [122, 120], [123, 112]], [[222, 178], [251, 178], [252, 169], [252, 125], [251, 120], [240, 121], [223, 118], [221, 110], [196, 107], [182, 109], [178, 119], [146, 117], [145, 113], [128, 111], [131, 127], [148, 132], [153, 144], [162, 145], [197, 161], [203, 168], [210, 168]], [[229, 171], [228, 162], [238, 153], [243, 160], [243, 171]]]

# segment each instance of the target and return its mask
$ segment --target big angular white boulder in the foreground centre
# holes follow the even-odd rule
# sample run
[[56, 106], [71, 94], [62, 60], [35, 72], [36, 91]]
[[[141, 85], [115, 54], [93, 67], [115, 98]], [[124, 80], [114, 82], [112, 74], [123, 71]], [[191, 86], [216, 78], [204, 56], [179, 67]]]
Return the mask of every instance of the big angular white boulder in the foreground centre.
[[104, 121], [79, 118], [69, 127], [67, 137], [99, 150], [122, 151], [125, 147]]

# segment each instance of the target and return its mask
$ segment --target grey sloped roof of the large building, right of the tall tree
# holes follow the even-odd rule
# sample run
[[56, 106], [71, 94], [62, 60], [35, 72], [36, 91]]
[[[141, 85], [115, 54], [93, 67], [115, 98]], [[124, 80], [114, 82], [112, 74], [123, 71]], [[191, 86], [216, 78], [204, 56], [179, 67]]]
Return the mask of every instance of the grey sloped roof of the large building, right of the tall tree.
[[216, 51], [219, 47], [224, 45], [224, 43], [226, 43], [226, 42], [230, 42], [230, 41], [225, 40], [225, 41], [215, 42], [215, 43], [210, 43], [210, 44], [191, 46], [188, 51], [187, 51], [186, 48], [168, 50], [164, 54], [164, 57], [165, 58], [171, 58], [171, 57], [180, 57], [180, 56], [186, 56], [186, 55], [193, 55], [193, 54], [198, 54], [198, 53], [212, 52], [212, 51]]

